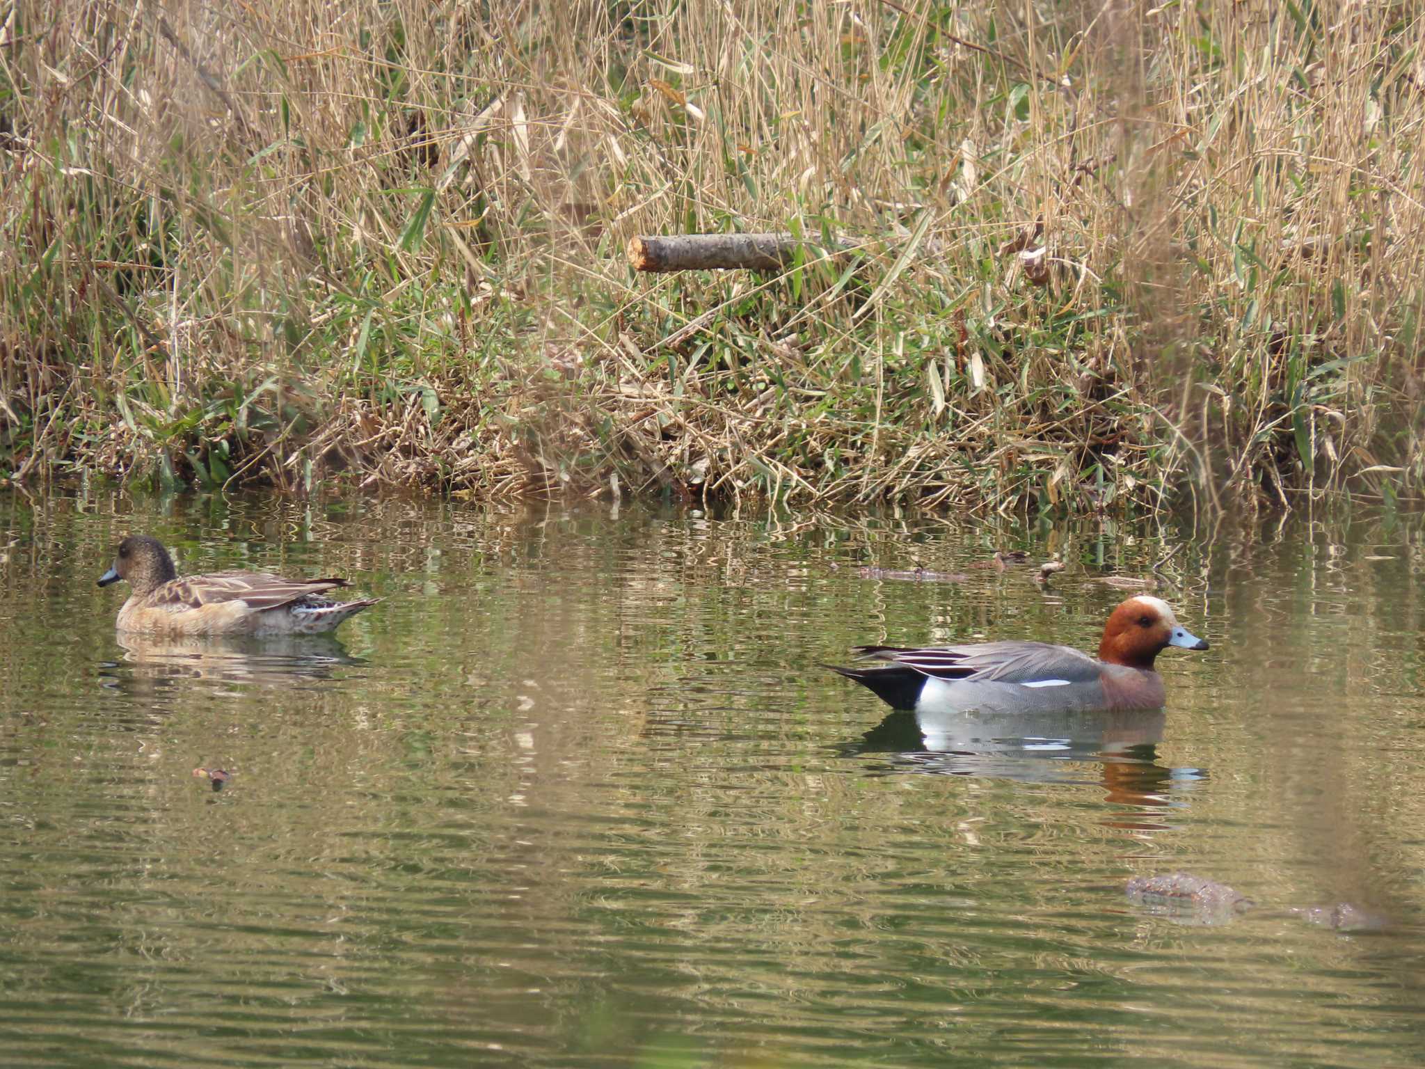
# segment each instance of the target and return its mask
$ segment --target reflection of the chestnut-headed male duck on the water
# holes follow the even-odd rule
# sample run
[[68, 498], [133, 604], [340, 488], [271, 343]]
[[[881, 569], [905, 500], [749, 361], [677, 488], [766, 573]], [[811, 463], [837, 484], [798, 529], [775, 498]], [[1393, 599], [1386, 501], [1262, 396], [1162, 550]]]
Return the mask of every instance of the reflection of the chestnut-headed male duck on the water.
[[1154, 812], [1181, 805], [1181, 792], [1207, 778], [1200, 768], [1159, 763], [1166, 721], [1161, 708], [1036, 714], [898, 710], [841, 751], [846, 757], [884, 755], [879, 774], [1097, 783], [1106, 801], [1140, 810], [1116, 812], [1106, 824], [1153, 831], [1166, 827]]

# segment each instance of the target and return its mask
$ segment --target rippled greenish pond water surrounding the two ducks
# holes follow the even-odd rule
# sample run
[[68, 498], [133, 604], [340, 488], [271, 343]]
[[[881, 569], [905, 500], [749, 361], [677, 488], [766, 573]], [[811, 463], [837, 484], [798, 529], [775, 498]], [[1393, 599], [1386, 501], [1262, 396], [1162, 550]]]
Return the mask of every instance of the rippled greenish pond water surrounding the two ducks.
[[[76, 492], [0, 526], [7, 1066], [1425, 1060], [1419, 517]], [[115, 634], [128, 532], [385, 600], [333, 641]], [[818, 667], [1092, 650], [1097, 580], [1164, 557], [1211, 641], [1160, 657], [1164, 713], [919, 725]], [[1255, 908], [1124, 894], [1178, 871]], [[1385, 929], [1304, 912], [1338, 904]]]

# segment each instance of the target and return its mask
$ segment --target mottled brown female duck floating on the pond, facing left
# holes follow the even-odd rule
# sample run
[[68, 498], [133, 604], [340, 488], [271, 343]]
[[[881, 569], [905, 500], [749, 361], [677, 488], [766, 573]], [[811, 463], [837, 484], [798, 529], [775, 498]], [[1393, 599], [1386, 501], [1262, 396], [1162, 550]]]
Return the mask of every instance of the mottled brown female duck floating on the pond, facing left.
[[318, 634], [380, 599], [333, 601], [345, 579], [281, 579], [256, 572], [212, 572], [180, 579], [158, 539], [130, 534], [98, 584], [127, 580], [134, 593], [118, 610], [118, 630], [157, 634]]

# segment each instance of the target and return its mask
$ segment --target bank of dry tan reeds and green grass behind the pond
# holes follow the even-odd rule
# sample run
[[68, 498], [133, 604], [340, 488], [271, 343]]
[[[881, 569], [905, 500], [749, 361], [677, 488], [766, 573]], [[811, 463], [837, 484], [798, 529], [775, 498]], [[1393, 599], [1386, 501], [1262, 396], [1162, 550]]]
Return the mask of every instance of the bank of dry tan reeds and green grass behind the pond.
[[[17, 482], [1422, 495], [1419, 4], [0, 24]], [[627, 267], [687, 231], [812, 244], [779, 277]]]

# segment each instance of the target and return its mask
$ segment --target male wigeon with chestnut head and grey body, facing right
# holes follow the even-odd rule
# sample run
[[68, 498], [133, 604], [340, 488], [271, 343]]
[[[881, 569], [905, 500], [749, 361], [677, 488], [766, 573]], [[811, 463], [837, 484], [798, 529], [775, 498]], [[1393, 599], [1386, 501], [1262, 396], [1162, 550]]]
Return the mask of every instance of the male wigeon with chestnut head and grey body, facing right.
[[1113, 610], [1097, 659], [1069, 646], [1016, 640], [921, 649], [858, 646], [861, 657], [891, 663], [826, 667], [869, 687], [893, 708], [916, 713], [1129, 711], [1163, 706], [1163, 677], [1153, 671], [1153, 660], [1167, 646], [1207, 649], [1178, 624], [1167, 601], [1139, 594]]

